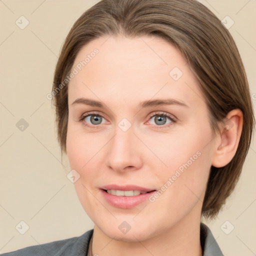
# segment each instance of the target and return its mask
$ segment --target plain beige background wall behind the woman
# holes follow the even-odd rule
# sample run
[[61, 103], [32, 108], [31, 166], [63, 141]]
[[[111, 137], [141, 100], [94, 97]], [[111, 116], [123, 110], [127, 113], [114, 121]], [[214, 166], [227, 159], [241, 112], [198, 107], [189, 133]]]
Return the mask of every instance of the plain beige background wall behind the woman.
[[[229, 28], [256, 93], [256, 1], [200, 0]], [[0, 252], [78, 236], [93, 228], [61, 165], [51, 91], [60, 47], [73, 22], [97, 0], [0, 0]], [[29, 24], [20, 29], [23, 15]], [[23, 24], [24, 24], [23, 20]], [[229, 21], [228, 21], [229, 22]], [[230, 23], [229, 23], [230, 24]], [[254, 94], [253, 104], [256, 103]], [[25, 119], [21, 131], [16, 123]], [[225, 256], [256, 254], [256, 145], [252, 142], [238, 185], [214, 221], [207, 222]], [[22, 235], [19, 222], [29, 229]], [[221, 225], [234, 229], [225, 234]], [[17, 226], [17, 229], [15, 228]], [[23, 225], [24, 226], [24, 225]]]

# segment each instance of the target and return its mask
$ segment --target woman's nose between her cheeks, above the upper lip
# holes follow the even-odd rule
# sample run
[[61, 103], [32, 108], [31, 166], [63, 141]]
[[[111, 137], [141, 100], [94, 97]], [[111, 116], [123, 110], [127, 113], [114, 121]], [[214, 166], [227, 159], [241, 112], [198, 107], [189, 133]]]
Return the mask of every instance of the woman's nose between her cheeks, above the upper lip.
[[143, 153], [140, 149], [142, 148], [133, 132], [132, 126], [126, 131], [116, 127], [115, 134], [107, 143], [105, 162], [108, 168], [118, 172], [141, 168]]

